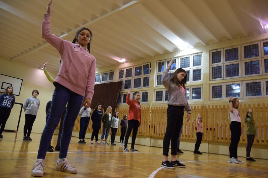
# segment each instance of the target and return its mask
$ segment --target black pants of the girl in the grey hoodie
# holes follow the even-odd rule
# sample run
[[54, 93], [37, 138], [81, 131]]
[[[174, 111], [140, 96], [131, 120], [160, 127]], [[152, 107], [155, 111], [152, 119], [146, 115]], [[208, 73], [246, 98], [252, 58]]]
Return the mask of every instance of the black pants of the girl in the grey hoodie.
[[171, 154], [177, 154], [178, 137], [182, 126], [184, 106], [172, 106], [167, 108], [167, 128], [163, 140], [163, 154], [168, 156], [169, 145]]

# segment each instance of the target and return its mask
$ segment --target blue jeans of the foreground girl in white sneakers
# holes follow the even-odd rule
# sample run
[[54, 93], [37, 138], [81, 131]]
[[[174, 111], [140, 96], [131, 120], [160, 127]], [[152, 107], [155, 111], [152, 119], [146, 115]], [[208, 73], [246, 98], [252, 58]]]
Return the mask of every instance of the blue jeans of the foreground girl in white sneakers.
[[66, 115], [63, 122], [63, 131], [61, 134], [59, 151], [59, 158], [67, 157], [75, 120], [80, 111], [83, 98], [83, 96], [70, 91], [68, 88], [60, 85], [59, 83], [57, 84], [52, 97], [51, 111], [41, 135], [37, 159], [45, 159], [47, 148], [52, 139], [54, 130], [58, 126], [60, 117], [68, 102]]

